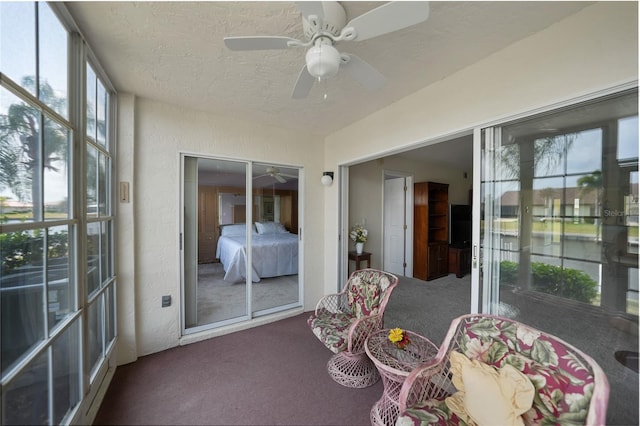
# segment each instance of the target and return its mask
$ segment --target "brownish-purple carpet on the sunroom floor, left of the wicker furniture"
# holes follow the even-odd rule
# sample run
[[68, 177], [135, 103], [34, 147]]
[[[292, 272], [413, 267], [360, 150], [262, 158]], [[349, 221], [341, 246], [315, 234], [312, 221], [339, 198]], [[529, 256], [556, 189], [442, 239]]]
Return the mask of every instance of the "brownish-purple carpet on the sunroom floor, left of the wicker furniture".
[[118, 367], [96, 425], [369, 425], [382, 383], [348, 389], [308, 314]]

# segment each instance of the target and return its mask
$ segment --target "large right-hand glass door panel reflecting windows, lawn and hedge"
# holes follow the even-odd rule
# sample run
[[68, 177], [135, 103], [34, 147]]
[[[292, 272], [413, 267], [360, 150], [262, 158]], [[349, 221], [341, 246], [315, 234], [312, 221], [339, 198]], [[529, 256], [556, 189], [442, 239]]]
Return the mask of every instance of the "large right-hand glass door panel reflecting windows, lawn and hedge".
[[482, 310], [592, 356], [637, 424], [637, 90], [484, 129], [481, 157]]

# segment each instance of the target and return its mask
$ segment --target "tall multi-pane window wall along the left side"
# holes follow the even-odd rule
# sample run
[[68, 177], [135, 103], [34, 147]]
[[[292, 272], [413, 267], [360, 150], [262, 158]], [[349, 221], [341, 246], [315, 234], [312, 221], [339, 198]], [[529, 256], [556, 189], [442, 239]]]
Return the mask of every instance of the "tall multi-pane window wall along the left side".
[[113, 95], [62, 8], [0, 3], [2, 424], [72, 421], [116, 335]]

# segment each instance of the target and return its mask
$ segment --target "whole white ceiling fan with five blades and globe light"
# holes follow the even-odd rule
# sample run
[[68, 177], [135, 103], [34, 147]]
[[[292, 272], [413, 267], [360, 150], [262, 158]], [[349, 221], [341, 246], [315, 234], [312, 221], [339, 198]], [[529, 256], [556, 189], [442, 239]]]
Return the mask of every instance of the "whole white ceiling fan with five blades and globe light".
[[341, 53], [334, 45], [342, 40], [362, 41], [426, 21], [429, 3], [396, 1], [386, 3], [347, 22], [347, 14], [337, 1], [299, 1], [302, 27], [308, 41], [290, 37], [225, 37], [231, 50], [268, 50], [310, 47], [291, 97], [305, 98], [313, 83], [335, 76], [339, 68], [370, 90], [381, 88], [384, 76], [352, 53]]

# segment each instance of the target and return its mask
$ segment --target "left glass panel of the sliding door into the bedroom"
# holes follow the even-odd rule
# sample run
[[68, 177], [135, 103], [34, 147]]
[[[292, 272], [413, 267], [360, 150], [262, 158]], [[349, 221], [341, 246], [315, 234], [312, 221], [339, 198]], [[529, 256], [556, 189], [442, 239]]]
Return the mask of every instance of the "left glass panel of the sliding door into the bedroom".
[[248, 318], [247, 163], [185, 156], [184, 170], [184, 321], [197, 331]]

